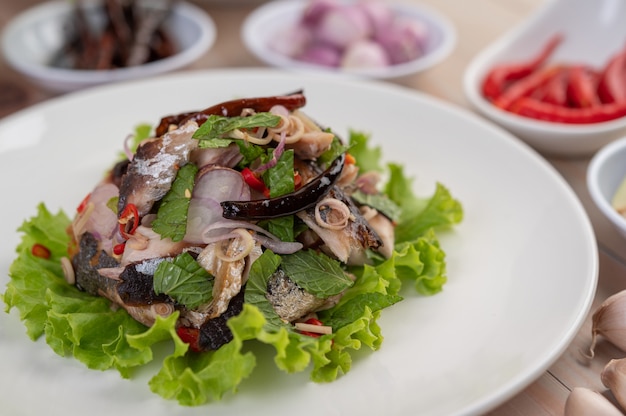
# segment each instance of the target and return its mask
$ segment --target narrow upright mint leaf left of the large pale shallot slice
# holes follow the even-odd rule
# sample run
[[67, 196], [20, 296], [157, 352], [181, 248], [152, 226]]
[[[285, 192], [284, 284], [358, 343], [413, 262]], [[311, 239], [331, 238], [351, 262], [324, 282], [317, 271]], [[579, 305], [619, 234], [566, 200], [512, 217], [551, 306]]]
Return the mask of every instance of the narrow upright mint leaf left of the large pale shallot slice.
[[165, 194], [152, 229], [163, 238], [181, 241], [187, 232], [187, 211], [198, 167], [188, 163], [178, 170], [172, 187]]

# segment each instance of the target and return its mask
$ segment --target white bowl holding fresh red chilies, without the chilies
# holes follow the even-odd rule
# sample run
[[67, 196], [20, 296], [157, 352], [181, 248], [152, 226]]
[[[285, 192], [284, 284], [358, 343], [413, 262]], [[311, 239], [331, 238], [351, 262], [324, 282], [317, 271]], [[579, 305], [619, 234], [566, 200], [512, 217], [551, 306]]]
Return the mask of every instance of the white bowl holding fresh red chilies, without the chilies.
[[588, 156], [625, 133], [626, 117], [571, 125], [533, 120], [496, 108], [481, 94], [487, 72], [496, 64], [527, 59], [555, 33], [564, 35], [550, 63], [604, 66], [624, 46], [626, 2], [551, 0], [522, 25], [488, 46], [465, 70], [465, 95], [479, 113], [536, 150], [551, 155]]

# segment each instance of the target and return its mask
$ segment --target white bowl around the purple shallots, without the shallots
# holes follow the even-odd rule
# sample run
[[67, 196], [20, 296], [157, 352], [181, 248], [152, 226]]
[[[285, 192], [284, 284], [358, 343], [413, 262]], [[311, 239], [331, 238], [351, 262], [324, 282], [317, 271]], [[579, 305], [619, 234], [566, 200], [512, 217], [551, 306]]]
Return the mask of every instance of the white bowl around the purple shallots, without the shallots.
[[254, 10], [245, 20], [242, 37], [246, 47], [258, 59], [279, 68], [341, 75], [390, 79], [428, 69], [446, 58], [456, 44], [454, 26], [438, 13], [417, 5], [392, 4], [396, 15], [422, 22], [429, 33], [426, 52], [413, 61], [383, 68], [337, 69], [293, 59], [274, 51], [270, 44], [282, 28], [295, 24], [308, 4], [307, 0], [278, 0]]

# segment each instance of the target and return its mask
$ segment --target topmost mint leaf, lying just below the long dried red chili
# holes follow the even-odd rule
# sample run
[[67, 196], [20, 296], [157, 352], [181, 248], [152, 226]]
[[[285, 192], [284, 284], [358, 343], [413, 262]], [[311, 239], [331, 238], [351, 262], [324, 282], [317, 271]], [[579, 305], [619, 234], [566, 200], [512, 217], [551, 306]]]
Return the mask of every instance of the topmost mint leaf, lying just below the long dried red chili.
[[[198, 139], [198, 145], [202, 148], [212, 147], [211, 141], [218, 140], [217, 143], [225, 143], [222, 137], [235, 129], [252, 129], [255, 127], [276, 127], [281, 118], [271, 113], [257, 113], [247, 117], [223, 117], [210, 115], [207, 120], [193, 134], [194, 139]], [[230, 139], [228, 144], [232, 142]]]

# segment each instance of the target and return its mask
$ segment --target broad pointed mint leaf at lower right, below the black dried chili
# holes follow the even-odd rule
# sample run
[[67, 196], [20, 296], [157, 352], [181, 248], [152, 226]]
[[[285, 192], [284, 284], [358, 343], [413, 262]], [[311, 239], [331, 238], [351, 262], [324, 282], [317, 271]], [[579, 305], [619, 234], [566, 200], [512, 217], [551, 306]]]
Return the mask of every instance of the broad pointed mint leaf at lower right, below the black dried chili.
[[338, 261], [313, 250], [282, 256], [281, 267], [298, 286], [321, 299], [341, 293], [353, 284]]

